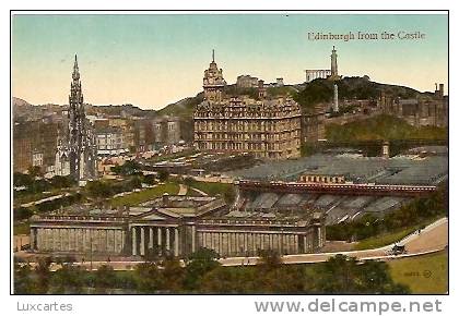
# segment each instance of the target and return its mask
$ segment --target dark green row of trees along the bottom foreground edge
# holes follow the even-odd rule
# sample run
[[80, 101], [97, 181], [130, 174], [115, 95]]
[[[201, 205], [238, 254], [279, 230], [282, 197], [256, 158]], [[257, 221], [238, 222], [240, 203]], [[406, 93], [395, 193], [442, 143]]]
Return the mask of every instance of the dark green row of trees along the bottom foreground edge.
[[49, 272], [49, 259], [42, 259], [32, 269], [15, 265], [14, 292], [43, 293], [409, 293], [393, 282], [386, 263], [358, 263], [355, 258], [336, 256], [314, 265], [283, 265], [278, 254], [264, 252], [257, 266], [223, 267], [213, 251], [201, 248], [186, 260], [176, 258], [161, 263], [145, 262], [133, 271], [114, 271], [102, 266], [86, 271], [64, 264]]

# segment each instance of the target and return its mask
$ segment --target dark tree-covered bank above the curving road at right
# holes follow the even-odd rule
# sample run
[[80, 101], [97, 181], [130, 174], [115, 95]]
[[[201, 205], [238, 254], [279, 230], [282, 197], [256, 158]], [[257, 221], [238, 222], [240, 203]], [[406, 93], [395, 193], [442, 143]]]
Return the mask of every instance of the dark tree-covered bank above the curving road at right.
[[429, 196], [415, 198], [382, 218], [368, 214], [351, 222], [329, 226], [327, 240], [362, 240], [396, 229], [413, 227], [447, 214], [448, 189], [444, 185]]

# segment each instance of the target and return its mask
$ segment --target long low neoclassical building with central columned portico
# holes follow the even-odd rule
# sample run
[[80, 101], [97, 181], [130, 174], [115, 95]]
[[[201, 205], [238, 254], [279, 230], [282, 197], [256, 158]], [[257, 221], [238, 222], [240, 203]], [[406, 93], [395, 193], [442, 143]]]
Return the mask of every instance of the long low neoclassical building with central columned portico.
[[320, 217], [309, 220], [233, 218], [216, 197], [160, 197], [148, 207], [93, 214], [50, 214], [31, 218], [36, 253], [186, 257], [198, 248], [221, 257], [313, 253], [325, 244]]

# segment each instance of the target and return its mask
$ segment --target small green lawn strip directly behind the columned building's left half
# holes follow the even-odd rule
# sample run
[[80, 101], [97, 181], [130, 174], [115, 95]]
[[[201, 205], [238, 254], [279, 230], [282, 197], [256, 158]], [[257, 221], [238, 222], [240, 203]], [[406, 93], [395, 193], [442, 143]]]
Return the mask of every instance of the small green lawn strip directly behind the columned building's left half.
[[167, 182], [165, 184], [158, 184], [155, 187], [148, 189], [141, 192], [134, 192], [126, 196], [115, 197], [110, 200], [113, 207], [118, 206], [134, 206], [150, 199], [154, 199], [158, 196], [162, 196], [164, 193], [177, 194], [178, 184], [173, 182]]

